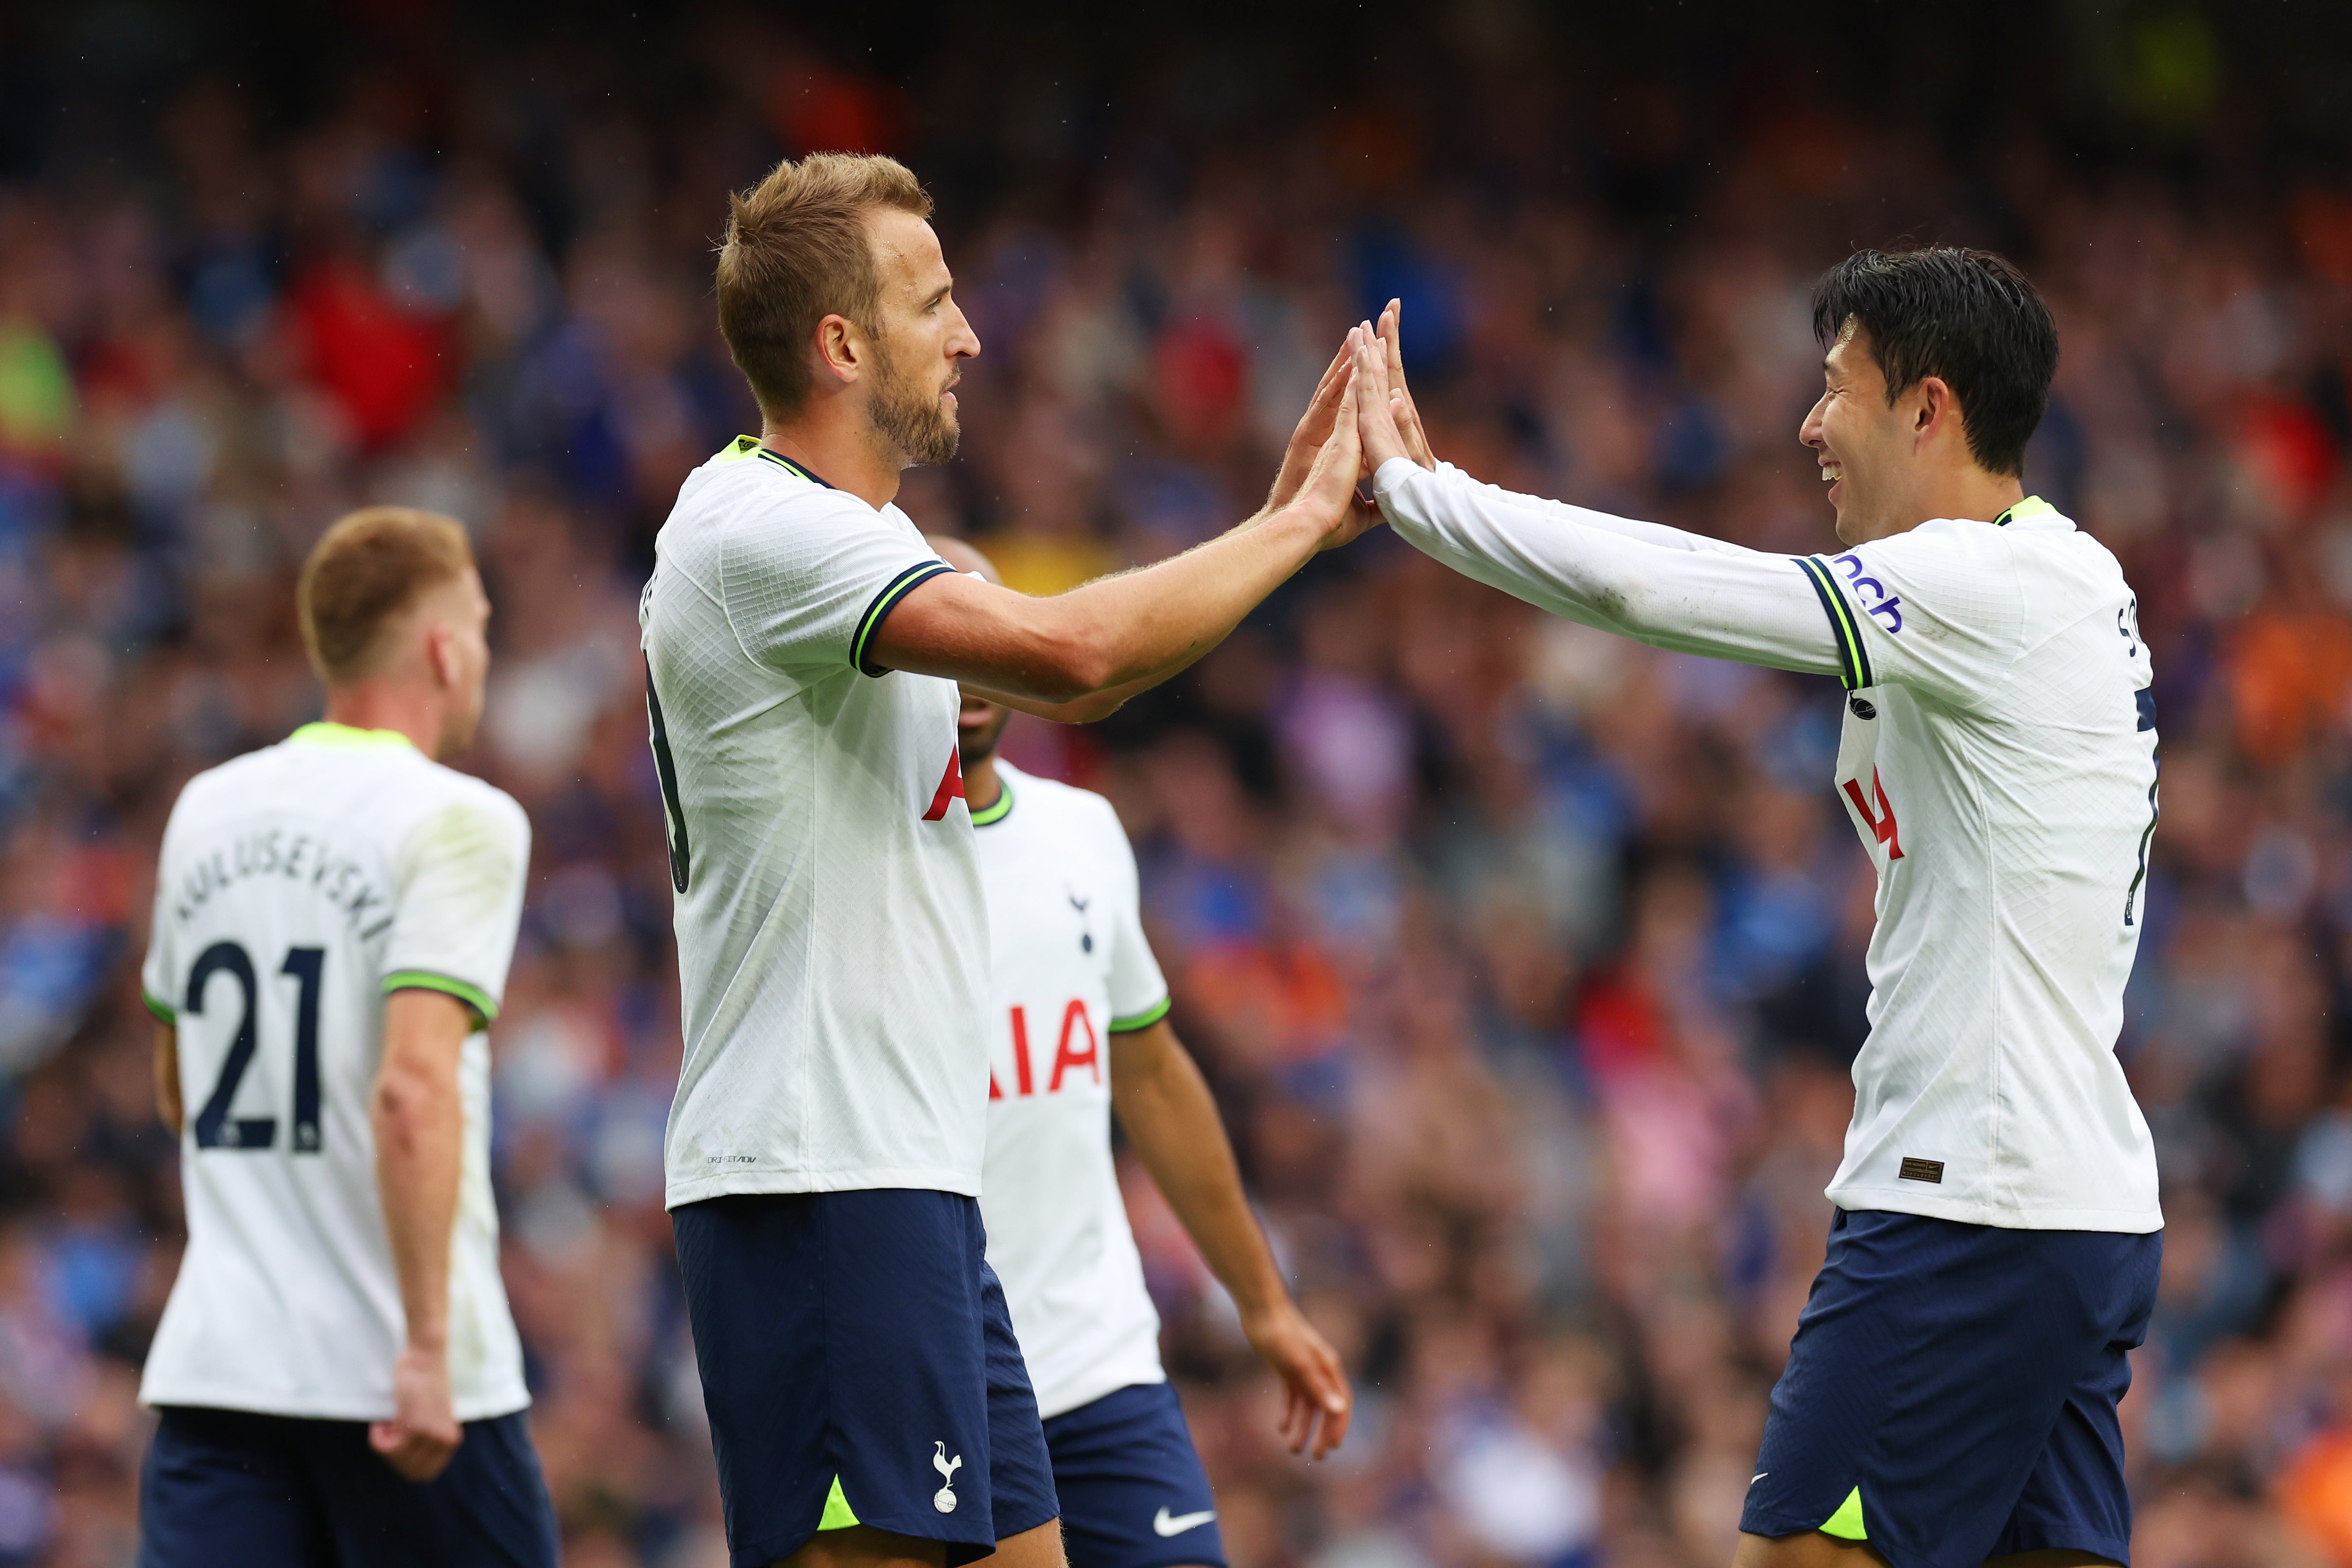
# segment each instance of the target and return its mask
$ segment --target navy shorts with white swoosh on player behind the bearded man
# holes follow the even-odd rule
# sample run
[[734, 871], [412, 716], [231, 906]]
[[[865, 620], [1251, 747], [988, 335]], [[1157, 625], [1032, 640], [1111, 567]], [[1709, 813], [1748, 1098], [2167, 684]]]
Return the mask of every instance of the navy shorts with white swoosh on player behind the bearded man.
[[1216, 1497], [1176, 1389], [1136, 1382], [1047, 1420], [1070, 1568], [1225, 1568]]

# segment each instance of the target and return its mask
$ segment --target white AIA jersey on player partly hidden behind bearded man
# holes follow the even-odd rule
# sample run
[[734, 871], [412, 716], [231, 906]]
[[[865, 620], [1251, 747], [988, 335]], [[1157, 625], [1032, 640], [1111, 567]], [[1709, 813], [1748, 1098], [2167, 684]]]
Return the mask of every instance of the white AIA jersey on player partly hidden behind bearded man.
[[1160, 1314], [1110, 1161], [1110, 1037], [1169, 1011], [1110, 802], [997, 762], [981, 811], [993, 961], [988, 1262], [1040, 1415], [1160, 1371]]

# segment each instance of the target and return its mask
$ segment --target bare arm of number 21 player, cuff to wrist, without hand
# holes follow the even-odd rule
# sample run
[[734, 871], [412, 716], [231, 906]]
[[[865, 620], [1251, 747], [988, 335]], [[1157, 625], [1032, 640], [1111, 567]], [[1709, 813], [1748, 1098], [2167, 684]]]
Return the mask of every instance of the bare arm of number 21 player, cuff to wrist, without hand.
[[[430, 1004], [463, 1018], [449, 997], [390, 997], [369, 1124], [376, 1133], [376, 1190], [409, 1345], [442, 1349], [449, 1340], [449, 1234], [456, 1227], [466, 1164], [466, 1105], [456, 1081], [466, 1025], [452, 1025]], [[452, 1027], [459, 1030], [456, 1041], [447, 1039]]]

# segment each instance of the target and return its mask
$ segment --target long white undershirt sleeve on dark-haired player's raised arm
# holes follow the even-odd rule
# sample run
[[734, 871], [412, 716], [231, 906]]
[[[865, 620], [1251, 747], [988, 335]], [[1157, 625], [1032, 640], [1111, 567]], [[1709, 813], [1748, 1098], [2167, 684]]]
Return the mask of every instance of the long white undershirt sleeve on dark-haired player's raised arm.
[[1785, 557], [1642, 543], [1404, 458], [1383, 463], [1374, 489], [1414, 548], [1566, 621], [1679, 654], [1837, 670], [1828, 614]]

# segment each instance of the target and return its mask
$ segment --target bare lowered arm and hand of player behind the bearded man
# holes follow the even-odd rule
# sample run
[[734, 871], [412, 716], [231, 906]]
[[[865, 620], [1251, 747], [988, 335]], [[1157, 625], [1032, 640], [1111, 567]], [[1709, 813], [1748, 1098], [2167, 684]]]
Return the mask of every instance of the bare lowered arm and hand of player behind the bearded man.
[[1338, 1352], [1282, 1284], [1209, 1084], [1164, 1018], [1110, 1037], [1110, 1105], [1209, 1272], [1232, 1293], [1249, 1347], [1282, 1378], [1291, 1453], [1312, 1441], [1312, 1458], [1324, 1458], [1348, 1439], [1355, 1392]]

